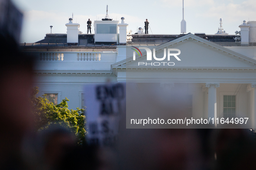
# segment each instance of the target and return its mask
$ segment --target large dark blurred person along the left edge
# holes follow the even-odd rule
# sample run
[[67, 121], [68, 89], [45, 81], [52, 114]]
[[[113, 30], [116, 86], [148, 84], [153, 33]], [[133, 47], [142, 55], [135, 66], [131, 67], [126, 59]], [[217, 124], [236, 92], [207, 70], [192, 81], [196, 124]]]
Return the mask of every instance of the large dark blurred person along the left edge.
[[[20, 52], [12, 36], [0, 34], [0, 165], [19, 157], [23, 135], [33, 126], [29, 91], [33, 59]], [[15, 156], [14, 156], [15, 155]]]

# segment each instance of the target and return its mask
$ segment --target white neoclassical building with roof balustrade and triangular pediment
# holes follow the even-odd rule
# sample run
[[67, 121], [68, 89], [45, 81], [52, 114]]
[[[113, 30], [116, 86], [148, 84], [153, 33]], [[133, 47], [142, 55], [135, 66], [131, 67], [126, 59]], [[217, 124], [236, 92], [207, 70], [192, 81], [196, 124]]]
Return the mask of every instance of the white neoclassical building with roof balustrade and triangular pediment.
[[[110, 21], [100, 21], [97, 24], [102, 24], [101, 22], [106, 24]], [[120, 25], [124, 32], [123, 25], [118, 23], [116, 21], [111, 24]], [[123, 21], [122, 24], [125, 27], [128, 25]], [[39, 95], [55, 94], [58, 103], [66, 97], [70, 100], [70, 109], [84, 106], [84, 85], [108, 81], [156, 82], [159, 87], [168, 86], [171, 90], [186, 87], [190, 101], [187, 107], [195, 118], [248, 117], [248, 128], [255, 128], [256, 22], [246, 22], [246, 26], [244, 25], [241, 26], [243, 29], [250, 26], [247, 32], [243, 31], [240, 35], [242, 43], [227, 43], [225, 35], [212, 36], [221, 39], [212, 42], [207, 38], [208, 35], [202, 38], [187, 34], [155, 35], [162, 39], [154, 39], [153, 35], [132, 35], [133, 44], [118, 45], [119, 39], [123, 41], [126, 35], [119, 34], [117, 29], [111, 35], [95, 35], [94, 38], [102, 37], [104, 44], [94, 44], [93, 35], [79, 35], [78, 45], [70, 46], [65, 41], [66, 34], [49, 34], [46, 36], [50, 39], [52, 36], [52, 44], [50, 41], [47, 44], [46, 37], [41, 42], [26, 44], [23, 50], [36, 57], [35, 86], [39, 87]], [[108, 37], [111, 38], [109, 42]], [[137, 40], [140, 38], [140, 42], [136, 41], [136, 37]], [[165, 37], [175, 38], [166, 40]], [[149, 39], [150, 42], [147, 43]], [[96, 41], [100, 42], [98, 39]], [[176, 60], [174, 66], [138, 66], [138, 61], [147, 62], [146, 51], [141, 50], [142, 56], [137, 54], [135, 61], [132, 55], [127, 56], [126, 53], [126, 49], [131, 46], [155, 48], [159, 56], [164, 55], [165, 48], [179, 49], [181, 54], [178, 57], [181, 61]]]

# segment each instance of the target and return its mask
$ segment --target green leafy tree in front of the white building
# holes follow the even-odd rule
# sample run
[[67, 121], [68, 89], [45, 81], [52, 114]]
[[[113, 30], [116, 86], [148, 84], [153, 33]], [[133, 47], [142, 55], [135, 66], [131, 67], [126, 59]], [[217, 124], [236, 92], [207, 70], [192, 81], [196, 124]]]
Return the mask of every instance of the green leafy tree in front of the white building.
[[81, 145], [85, 140], [86, 134], [85, 109], [69, 110], [67, 103], [69, 100], [67, 98], [62, 100], [60, 104], [54, 105], [46, 99], [45, 95], [43, 97], [36, 97], [38, 92], [38, 87], [35, 87], [30, 93], [36, 131], [47, 129], [51, 124], [60, 124], [71, 129], [71, 132], [74, 132], [78, 139], [78, 144]]

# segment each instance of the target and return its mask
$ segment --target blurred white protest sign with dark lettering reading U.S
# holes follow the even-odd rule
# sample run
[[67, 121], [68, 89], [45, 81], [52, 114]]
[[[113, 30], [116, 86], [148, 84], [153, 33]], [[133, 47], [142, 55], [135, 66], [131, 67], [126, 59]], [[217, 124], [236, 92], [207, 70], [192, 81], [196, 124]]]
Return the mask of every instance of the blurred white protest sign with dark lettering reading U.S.
[[109, 146], [117, 139], [120, 115], [125, 111], [124, 84], [87, 85], [84, 87], [89, 144]]

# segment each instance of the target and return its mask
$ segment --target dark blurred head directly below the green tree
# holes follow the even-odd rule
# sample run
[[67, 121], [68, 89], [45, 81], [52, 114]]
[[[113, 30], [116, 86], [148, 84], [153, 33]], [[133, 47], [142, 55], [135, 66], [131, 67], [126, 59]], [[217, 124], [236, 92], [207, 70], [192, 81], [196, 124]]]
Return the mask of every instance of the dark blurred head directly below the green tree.
[[24, 137], [22, 158], [32, 170], [56, 169], [75, 143], [75, 135], [70, 129], [52, 124], [48, 129]]

